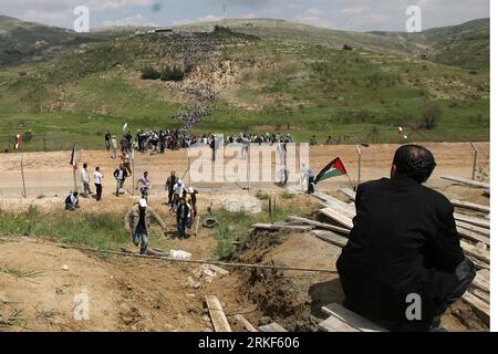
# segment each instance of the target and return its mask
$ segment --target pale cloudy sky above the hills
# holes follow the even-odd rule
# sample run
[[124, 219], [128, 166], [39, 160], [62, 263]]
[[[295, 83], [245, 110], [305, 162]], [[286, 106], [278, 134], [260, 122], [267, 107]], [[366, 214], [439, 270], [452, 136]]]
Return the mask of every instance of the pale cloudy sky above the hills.
[[[224, 11], [224, 2], [228, 11]], [[176, 25], [228, 18], [276, 18], [347, 31], [404, 31], [406, 9], [418, 6], [422, 28], [488, 18], [490, 0], [0, 0], [0, 14], [73, 28], [77, 6], [90, 28]]]

